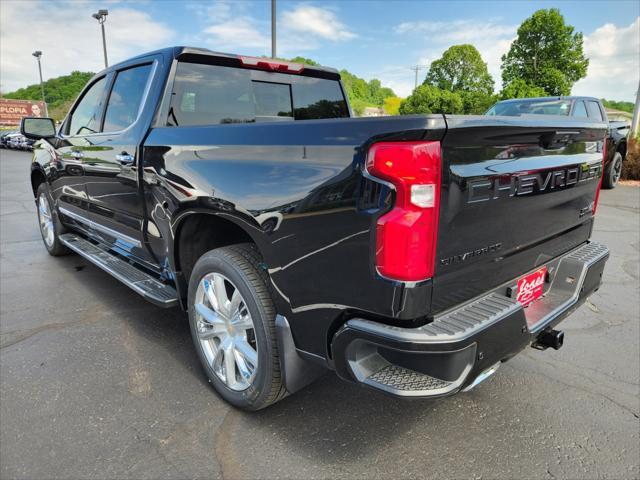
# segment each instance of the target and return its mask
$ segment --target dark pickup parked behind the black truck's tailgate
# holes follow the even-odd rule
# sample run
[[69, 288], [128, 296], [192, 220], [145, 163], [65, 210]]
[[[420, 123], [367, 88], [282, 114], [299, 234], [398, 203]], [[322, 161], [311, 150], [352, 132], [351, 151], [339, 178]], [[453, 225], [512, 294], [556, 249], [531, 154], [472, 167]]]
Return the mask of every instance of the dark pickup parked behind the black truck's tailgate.
[[602, 101], [595, 97], [541, 97], [503, 100], [491, 107], [487, 115], [563, 115], [592, 118], [609, 125], [607, 155], [604, 160], [602, 186], [615, 188], [622, 173], [622, 162], [627, 154], [627, 122], [609, 122]]

